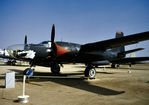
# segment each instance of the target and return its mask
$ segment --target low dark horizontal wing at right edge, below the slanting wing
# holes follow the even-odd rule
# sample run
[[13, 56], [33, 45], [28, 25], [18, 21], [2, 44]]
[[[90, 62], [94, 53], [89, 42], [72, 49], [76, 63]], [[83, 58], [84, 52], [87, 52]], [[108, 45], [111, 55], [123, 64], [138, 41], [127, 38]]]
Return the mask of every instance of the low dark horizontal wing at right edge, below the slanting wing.
[[140, 63], [141, 61], [149, 61], [149, 57], [122, 58], [111, 62], [115, 64], [137, 64], [137, 63]]

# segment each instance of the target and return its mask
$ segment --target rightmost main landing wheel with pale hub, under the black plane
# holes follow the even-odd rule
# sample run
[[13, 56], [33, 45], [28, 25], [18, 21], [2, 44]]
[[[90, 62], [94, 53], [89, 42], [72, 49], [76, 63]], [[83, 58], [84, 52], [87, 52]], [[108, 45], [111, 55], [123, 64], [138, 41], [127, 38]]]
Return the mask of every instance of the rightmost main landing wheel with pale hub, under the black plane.
[[84, 74], [85, 74], [85, 77], [88, 77], [88, 78], [95, 78], [95, 76], [96, 76], [96, 69], [93, 68], [92, 66], [87, 67], [87, 68], [85, 69]]

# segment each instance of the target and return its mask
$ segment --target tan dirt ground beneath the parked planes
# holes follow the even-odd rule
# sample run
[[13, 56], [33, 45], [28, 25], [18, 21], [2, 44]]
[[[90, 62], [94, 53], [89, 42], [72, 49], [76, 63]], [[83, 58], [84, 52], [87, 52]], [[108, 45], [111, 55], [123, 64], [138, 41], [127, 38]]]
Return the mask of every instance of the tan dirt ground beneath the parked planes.
[[[27, 66], [0, 63], [0, 105], [20, 105], [22, 71]], [[26, 105], [149, 105], [149, 64], [118, 69], [96, 68], [95, 80], [84, 77], [84, 65], [64, 65], [54, 76], [47, 67], [35, 67], [34, 78], [26, 83]], [[15, 88], [6, 89], [5, 73], [16, 74]], [[41, 77], [40, 77], [41, 76]]]

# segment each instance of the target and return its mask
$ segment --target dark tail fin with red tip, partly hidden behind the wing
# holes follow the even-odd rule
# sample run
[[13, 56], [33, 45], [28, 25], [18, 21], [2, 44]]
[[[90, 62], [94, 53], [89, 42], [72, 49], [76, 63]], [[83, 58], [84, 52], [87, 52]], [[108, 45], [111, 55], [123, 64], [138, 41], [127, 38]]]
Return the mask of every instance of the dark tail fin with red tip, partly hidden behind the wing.
[[[115, 36], [116, 38], [120, 38], [120, 37], [123, 37], [123, 36], [124, 36], [123, 32], [121, 32], [121, 31], [116, 32], [116, 36]], [[118, 48], [116, 48], [116, 50], [117, 50], [118, 53], [121, 53], [121, 52], [125, 51], [125, 47], [124, 46], [118, 47]], [[120, 57], [125, 57], [125, 54], [120, 55]]]

